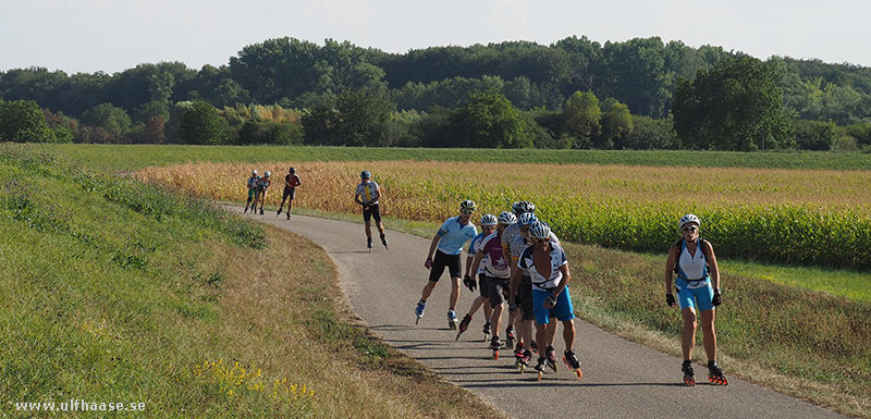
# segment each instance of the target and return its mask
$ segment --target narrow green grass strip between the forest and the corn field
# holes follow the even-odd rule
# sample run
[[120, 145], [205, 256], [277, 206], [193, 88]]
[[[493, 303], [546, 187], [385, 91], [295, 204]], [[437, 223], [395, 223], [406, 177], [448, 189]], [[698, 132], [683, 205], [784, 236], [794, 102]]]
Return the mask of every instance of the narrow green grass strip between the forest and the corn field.
[[47, 145], [91, 167], [131, 171], [194, 161], [439, 160], [702, 168], [869, 170], [871, 156], [832, 152], [502, 150], [360, 147]]

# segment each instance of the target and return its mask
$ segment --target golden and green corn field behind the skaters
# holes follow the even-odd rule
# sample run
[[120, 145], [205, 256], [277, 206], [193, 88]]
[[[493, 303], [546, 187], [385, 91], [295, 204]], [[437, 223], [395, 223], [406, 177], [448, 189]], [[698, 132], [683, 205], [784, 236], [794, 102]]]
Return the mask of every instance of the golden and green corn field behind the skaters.
[[303, 185], [295, 207], [359, 212], [354, 190], [369, 170], [384, 215], [440, 221], [473, 199], [479, 213], [530, 200], [563, 239], [664, 252], [677, 219], [702, 220], [719, 256], [871, 268], [871, 172], [441, 161], [191, 163], [137, 176], [192, 195], [244, 201], [252, 171], [271, 171], [278, 206], [289, 167]]

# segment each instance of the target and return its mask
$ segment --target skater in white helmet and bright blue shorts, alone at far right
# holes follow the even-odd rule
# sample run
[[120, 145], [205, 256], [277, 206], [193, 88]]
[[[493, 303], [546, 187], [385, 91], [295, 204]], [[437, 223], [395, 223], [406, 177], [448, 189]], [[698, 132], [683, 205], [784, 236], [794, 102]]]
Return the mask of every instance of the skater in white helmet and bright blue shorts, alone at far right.
[[[684, 333], [680, 349], [684, 353], [684, 384], [696, 385], [692, 370], [692, 348], [696, 343], [696, 307], [701, 312], [702, 343], [708, 355], [708, 380], [713, 384], [728, 385], [723, 369], [716, 365], [716, 331], [714, 329], [715, 308], [722, 303], [720, 291], [720, 268], [716, 264], [714, 248], [710, 242], [699, 238], [701, 220], [695, 214], [686, 214], [678, 221], [683, 237], [672, 244], [665, 261], [665, 303], [679, 305], [684, 319]], [[672, 294], [672, 273], [677, 273]]]

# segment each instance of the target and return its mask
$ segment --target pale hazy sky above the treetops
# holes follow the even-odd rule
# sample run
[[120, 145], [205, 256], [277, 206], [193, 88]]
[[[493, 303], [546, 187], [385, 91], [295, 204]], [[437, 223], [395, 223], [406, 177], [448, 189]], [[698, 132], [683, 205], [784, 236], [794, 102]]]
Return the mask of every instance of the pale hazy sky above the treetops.
[[871, 0], [0, 0], [0, 71], [228, 64], [252, 44], [326, 38], [407, 52], [568, 36], [659, 36], [759, 59], [871, 66]]

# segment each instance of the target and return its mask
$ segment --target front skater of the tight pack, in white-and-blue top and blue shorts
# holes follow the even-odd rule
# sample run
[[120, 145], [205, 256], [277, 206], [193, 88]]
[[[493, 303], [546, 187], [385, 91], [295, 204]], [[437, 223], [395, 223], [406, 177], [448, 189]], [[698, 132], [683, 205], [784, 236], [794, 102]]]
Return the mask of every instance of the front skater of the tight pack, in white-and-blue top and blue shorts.
[[[553, 316], [563, 322], [563, 338], [565, 340], [565, 352], [563, 361], [574, 370], [578, 379], [584, 374], [580, 371], [575, 352], [575, 309], [572, 306], [572, 297], [568, 295], [568, 283], [572, 275], [568, 272], [568, 259], [566, 259], [563, 248], [551, 241], [551, 231], [548, 224], [538, 221], [529, 227], [529, 237], [532, 246], [527, 247], [520, 255], [517, 267], [532, 280], [532, 309], [536, 316], [536, 338], [539, 342], [548, 341], [548, 329], [556, 325], [551, 322]], [[548, 346], [545, 356], [539, 355], [536, 371], [538, 379], [544, 372], [544, 363], [553, 360], [551, 353], [552, 346]], [[556, 371], [555, 365], [551, 366]]]

